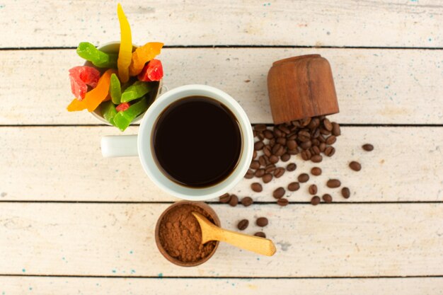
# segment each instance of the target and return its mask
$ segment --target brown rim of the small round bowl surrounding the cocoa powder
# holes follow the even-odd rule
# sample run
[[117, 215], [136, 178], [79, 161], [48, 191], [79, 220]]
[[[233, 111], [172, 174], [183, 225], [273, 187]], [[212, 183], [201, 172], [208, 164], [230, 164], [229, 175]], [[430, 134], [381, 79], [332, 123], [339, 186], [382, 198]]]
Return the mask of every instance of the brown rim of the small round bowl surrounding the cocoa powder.
[[159, 248], [160, 253], [170, 262], [172, 262], [175, 265], [179, 265], [179, 266], [183, 266], [183, 267], [192, 267], [192, 266], [197, 266], [197, 265], [201, 265], [202, 263], [207, 262], [207, 260], [209, 260], [209, 258], [212, 257], [212, 255], [214, 255], [215, 251], [217, 250], [217, 248], [219, 247], [219, 241], [215, 242], [215, 247], [212, 250], [211, 253], [209, 253], [209, 255], [207, 255], [205, 258], [203, 258], [202, 260], [198, 260], [196, 262], [183, 262], [180, 261], [176, 258], [173, 258], [171, 255], [169, 255], [166, 250], [163, 248], [163, 245], [161, 245], [160, 243], [160, 236], [159, 236], [159, 229], [160, 229], [160, 224], [161, 224], [161, 220], [163, 219], [163, 217], [171, 211], [171, 209], [178, 207], [178, 206], [182, 206], [182, 205], [192, 205], [192, 206], [196, 206], [196, 207], [200, 207], [201, 209], [205, 210], [205, 212], [207, 212], [211, 218], [214, 220], [214, 224], [216, 226], [221, 226], [220, 223], [220, 219], [219, 216], [217, 216], [217, 213], [215, 213], [215, 211], [209, 207], [208, 204], [206, 204], [205, 202], [192, 202], [192, 201], [180, 201], [180, 202], [176, 202], [174, 204], [172, 204], [171, 206], [169, 206], [159, 217], [159, 220], [157, 220], [157, 224], [156, 224], [156, 231], [155, 231], [155, 238], [156, 238], [156, 245], [157, 248]]

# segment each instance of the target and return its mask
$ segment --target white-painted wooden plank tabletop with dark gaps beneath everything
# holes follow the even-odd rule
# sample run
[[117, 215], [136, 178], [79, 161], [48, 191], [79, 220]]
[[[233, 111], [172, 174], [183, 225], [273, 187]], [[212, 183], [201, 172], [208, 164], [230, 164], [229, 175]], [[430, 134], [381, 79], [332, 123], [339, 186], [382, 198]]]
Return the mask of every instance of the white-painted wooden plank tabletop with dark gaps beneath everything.
[[443, 1], [122, 3], [135, 43], [165, 42], [169, 88], [221, 88], [253, 123], [272, 122], [273, 61], [320, 53], [333, 68], [342, 136], [316, 183], [336, 175], [352, 197], [313, 207], [304, 185], [278, 207], [272, 190], [313, 166], [293, 156], [297, 170], [260, 194], [251, 180], [234, 187], [253, 206], [209, 202], [228, 229], [267, 216], [277, 254], [220, 245], [193, 268], [154, 242], [176, 199], [137, 158], [101, 157], [100, 137], [118, 130], [65, 111], [74, 48], [118, 39], [115, 4], [0, 0], [1, 295], [443, 294]]

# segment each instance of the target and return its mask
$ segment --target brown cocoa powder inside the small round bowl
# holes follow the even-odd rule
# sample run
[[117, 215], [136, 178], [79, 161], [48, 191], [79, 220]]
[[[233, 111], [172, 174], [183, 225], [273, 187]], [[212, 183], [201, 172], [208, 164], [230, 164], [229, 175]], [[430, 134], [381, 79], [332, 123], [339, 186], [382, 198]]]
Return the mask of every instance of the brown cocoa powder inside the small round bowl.
[[163, 216], [159, 226], [161, 246], [173, 258], [182, 262], [197, 262], [212, 253], [216, 242], [202, 245], [202, 230], [192, 212], [198, 212], [209, 221], [212, 216], [200, 207], [183, 204], [174, 207]]

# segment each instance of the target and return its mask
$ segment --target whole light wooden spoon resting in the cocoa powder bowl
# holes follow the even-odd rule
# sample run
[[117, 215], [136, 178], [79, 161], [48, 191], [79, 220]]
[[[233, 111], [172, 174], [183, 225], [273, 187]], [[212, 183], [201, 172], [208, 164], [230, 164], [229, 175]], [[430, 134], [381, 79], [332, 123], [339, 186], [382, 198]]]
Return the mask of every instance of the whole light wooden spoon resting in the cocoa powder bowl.
[[276, 251], [274, 243], [267, 238], [249, 236], [243, 233], [221, 229], [212, 224], [212, 222], [207, 220], [202, 214], [197, 212], [192, 212], [192, 214], [194, 214], [202, 229], [202, 244], [208, 241], [222, 241], [238, 248], [267, 256], [274, 255]]

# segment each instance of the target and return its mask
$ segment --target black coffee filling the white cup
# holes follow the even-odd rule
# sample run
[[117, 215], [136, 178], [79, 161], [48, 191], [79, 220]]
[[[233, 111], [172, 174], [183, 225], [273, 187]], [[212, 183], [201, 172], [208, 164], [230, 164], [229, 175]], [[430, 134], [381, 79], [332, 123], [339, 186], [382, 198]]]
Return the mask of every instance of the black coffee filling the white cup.
[[153, 132], [154, 158], [163, 173], [181, 185], [208, 187], [236, 168], [241, 129], [222, 103], [190, 96], [164, 110]]

